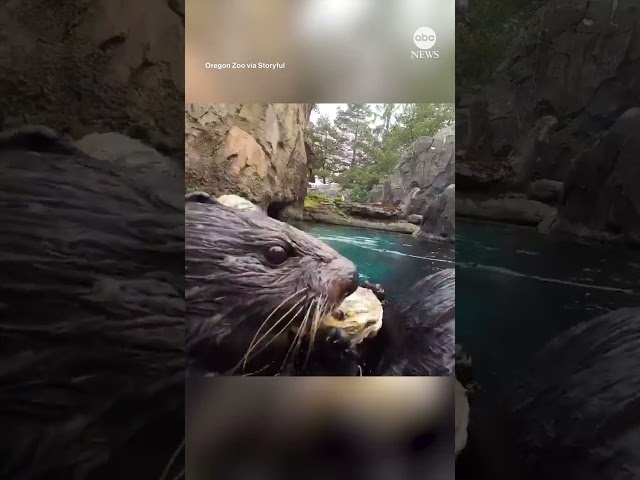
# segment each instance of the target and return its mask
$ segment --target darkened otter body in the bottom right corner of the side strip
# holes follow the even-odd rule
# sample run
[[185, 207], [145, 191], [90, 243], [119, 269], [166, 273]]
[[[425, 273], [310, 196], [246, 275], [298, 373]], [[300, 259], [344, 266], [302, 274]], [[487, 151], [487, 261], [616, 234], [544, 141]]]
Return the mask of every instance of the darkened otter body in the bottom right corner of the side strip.
[[462, 478], [638, 478], [639, 370], [640, 308], [570, 328], [471, 406]]

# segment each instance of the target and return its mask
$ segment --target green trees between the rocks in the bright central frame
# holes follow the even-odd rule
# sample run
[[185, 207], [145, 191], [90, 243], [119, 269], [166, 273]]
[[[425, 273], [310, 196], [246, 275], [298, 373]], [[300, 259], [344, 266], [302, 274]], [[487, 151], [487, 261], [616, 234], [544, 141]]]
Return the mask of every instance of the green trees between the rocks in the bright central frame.
[[347, 104], [334, 122], [321, 116], [307, 132], [317, 157], [314, 174], [365, 201], [414, 140], [433, 136], [453, 119], [452, 104]]

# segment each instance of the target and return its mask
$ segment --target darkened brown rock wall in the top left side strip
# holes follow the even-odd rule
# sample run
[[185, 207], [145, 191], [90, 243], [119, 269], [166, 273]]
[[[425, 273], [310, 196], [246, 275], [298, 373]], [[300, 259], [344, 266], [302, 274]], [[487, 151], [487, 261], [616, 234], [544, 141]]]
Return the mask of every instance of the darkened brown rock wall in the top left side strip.
[[0, 9], [0, 127], [120, 132], [182, 163], [184, 0], [49, 7]]

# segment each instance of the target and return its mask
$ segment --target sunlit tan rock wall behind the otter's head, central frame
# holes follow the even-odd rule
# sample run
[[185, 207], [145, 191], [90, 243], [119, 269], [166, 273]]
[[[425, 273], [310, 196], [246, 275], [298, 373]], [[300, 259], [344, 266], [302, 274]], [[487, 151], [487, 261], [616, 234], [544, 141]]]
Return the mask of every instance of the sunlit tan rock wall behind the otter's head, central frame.
[[187, 189], [240, 195], [276, 218], [299, 219], [309, 179], [311, 104], [185, 107]]

